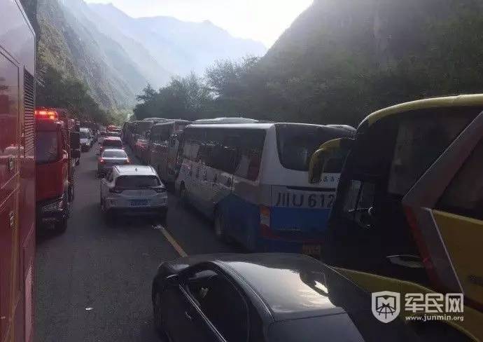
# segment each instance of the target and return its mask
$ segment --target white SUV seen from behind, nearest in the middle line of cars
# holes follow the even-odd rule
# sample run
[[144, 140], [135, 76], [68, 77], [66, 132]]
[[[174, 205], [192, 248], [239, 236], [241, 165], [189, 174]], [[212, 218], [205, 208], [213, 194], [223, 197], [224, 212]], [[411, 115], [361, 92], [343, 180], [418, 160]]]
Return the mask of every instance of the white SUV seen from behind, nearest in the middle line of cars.
[[101, 180], [101, 209], [115, 214], [149, 214], [165, 219], [166, 187], [151, 166], [114, 165]]

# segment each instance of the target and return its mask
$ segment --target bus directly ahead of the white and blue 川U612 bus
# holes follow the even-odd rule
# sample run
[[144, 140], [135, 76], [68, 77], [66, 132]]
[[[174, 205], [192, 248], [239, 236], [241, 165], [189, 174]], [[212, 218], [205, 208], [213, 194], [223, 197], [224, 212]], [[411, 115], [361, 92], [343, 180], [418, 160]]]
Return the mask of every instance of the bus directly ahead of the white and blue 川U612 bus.
[[146, 163], [154, 167], [158, 176], [166, 183], [176, 179], [176, 158], [179, 151], [179, 135], [191, 121], [176, 119], [158, 123], [151, 130]]

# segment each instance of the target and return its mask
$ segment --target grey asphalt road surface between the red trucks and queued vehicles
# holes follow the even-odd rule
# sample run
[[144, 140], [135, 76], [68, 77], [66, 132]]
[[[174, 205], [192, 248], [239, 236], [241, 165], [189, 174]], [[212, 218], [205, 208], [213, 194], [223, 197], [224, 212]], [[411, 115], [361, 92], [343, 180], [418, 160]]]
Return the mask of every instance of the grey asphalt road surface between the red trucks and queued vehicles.
[[[151, 219], [106, 224], [96, 151], [94, 144], [76, 168], [67, 231], [38, 232], [36, 341], [160, 341], [153, 328], [151, 281], [158, 265], [179, 252]], [[171, 193], [165, 228], [187, 254], [240, 252], [218, 242], [211, 223]]]

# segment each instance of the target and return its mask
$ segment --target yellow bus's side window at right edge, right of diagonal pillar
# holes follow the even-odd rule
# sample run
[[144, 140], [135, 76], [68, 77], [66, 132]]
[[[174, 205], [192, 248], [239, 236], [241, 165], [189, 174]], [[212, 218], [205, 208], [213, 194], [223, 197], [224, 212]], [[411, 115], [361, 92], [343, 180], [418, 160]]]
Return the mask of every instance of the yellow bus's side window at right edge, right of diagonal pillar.
[[444, 191], [437, 208], [483, 220], [483, 141]]

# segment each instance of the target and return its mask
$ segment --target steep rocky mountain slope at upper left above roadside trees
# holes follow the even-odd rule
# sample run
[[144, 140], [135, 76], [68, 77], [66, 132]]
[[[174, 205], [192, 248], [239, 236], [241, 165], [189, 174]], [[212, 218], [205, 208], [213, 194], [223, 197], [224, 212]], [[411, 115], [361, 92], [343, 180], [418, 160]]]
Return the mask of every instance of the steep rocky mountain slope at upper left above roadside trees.
[[45, 66], [84, 81], [103, 107], [134, 104], [146, 78], [116, 41], [57, 0], [38, 0], [37, 20], [38, 56]]

